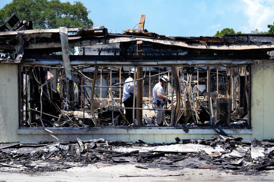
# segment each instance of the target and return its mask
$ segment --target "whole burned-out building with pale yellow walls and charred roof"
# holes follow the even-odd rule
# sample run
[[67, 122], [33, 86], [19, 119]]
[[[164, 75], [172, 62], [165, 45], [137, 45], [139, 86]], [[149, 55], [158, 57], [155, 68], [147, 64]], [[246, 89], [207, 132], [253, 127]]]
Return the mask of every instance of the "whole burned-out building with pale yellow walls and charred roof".
[[[274, 35], [166, 37], [140, 22], [123, 34], [104, 26], [31, 30], [22, 22], [13, 31], [2, 25], [0, 141], [77, 135], [169, 143], [224, 136], [219, 129], [245, 140], [272, 138]], [[79, 55], [69, 55], [69, 47], [79, 47]], [[134, 123], [121, 102], [131, 68], [137, 68]], [[152, 88], [163, 74], [172, 103], [157, 126]]]

